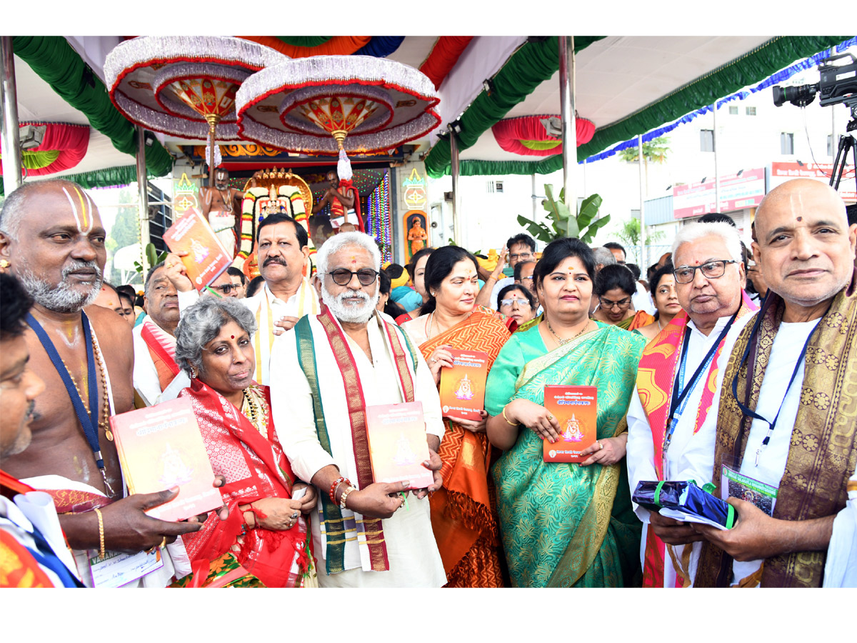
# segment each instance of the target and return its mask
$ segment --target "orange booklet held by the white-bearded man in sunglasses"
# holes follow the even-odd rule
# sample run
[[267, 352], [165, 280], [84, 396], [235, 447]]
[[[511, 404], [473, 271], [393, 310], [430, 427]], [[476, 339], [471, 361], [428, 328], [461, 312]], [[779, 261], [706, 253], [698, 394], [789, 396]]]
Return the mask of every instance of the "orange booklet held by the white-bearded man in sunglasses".
[[434, 474], [428, 460], [423, 402], [366, 407], [366, 433], [375, 482], [410, 481], [408, 489], [425, 489]]

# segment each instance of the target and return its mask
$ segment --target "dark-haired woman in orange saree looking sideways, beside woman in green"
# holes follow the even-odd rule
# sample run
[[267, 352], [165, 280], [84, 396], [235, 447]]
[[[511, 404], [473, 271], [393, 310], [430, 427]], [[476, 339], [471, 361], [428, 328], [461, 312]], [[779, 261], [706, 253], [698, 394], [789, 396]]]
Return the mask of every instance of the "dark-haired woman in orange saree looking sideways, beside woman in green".
[[[440, 384], [440, 370], [452, 366], [449, 349], [488, 353], [488, 369], [516, 326], [492, 309], [474, 307], [479, 291], [476, 258], [457, 246], [434, 250], [428, 257], [423, 315], [402, 328]], [[443, 489], [431, 503], [434, 539], [446, 570], [447, 587], [501, 587], [500, 536], [493, 484], [489, 483], [491, 449], [482, 412], [478, 421], [447, 419], [440, 442]]]

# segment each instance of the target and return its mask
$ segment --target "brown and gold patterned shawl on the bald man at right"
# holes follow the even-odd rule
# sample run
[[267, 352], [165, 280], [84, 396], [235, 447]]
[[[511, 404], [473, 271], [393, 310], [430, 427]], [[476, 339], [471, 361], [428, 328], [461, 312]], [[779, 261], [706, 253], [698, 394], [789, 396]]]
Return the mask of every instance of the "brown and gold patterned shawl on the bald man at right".
[[[830, 309], [812, 331], [804, 358], [800, 405], [794, 420], [786, 471], [776, 494], [773, 517], [812, 520], [836, 514], [848, 501], [848, 478], [857, 464], [854, 445], [857, 426], [857, 270], [848, 287], [833, 297]], [[738, 398], [755, 409], [764, 370], [770, 358], [784, 303], [776, 293], [765, 299], [759, 328], [747, 324], [729, 359], [720, 394], [715, 443], [714, 484], [720, 493], [720, 463], [744, 457], [752, 418], [745, 416], [732, 393], [737, 377]], [[752, 340], [752, 344], [751, 344]], [[749, 359], [741, 364], [750, 346]], [[740, 519], [739, 519], [740, 520]], [[798, 551], [766, 558], [761, 568], [763, 587], [820, 587], [825, 551]], [[756, 574], [753, 574], [754, 576]], [[732, 557], [704, 543], [696, 579], [698, 587], [728, 586]], [[740, 580], [740, 579], [739, 579]]]

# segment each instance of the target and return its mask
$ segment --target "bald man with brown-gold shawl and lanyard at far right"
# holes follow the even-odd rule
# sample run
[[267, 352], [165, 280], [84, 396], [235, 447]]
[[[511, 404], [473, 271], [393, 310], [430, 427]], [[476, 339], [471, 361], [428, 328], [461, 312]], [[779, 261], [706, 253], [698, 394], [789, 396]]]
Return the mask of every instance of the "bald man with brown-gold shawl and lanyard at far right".
[[738, 519], [693, 526], [708, 541], [693, 585], [820, 587], [829, 557], [854, 556], [839, 530], [857, 468], [857, 224], [813, 179], [772, 189], [755, 224], [769, 292], [723, 376], [712, 478]]

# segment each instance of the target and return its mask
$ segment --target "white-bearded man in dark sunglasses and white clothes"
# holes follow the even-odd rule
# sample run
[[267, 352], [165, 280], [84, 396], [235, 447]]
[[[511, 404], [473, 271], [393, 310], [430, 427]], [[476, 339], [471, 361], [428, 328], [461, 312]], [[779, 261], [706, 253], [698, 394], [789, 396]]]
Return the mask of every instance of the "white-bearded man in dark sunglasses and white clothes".
[[[340, 233], [318, 253], [325, 306], [274, 344], [274, 424], [297, 476], [319, 490], [312, 518], [322, 587], [439, 587], [446, 583], [429, 518], [440, 488], [444, 427], [431, 371], [405, 331], [375, 311], [381, 257], [360, 232]], [[375, 483], [366, 407], [422, 402], [427, 488]]]

